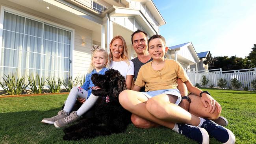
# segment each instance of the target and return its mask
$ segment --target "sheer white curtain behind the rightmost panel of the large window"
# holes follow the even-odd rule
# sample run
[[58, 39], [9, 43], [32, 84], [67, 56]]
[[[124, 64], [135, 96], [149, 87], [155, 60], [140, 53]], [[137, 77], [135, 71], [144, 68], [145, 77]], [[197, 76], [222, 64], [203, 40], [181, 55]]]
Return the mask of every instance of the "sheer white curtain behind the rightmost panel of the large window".
[[43, 75], [67, 79], [70, 75], [70, 32], [44, 25]]

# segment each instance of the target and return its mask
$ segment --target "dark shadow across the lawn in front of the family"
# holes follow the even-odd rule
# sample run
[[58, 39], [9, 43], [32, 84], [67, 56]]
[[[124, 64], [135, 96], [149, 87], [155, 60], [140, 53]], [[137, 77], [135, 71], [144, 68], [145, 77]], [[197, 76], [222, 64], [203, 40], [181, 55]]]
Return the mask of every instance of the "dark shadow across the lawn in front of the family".
[[[100, 136], [93, 139], [78, 141], [64, 141], [62, 128], [56, 128], [51, 124], [43, 124], [43, 118], [54, 116], [60, 108], [48, 111], [22, 111], [0, 114], [0, 143], [40, 143], [40, 144], [63, 144], [63, 143], [88, 143], [88, 144], [196, 144], [183, 135], [165, 127], [138, 129], [132, 124], [124, 133]], [[211, 138], [211, 143], [216, 143]], [[217, 142], [218, 143], [218, 142]]]

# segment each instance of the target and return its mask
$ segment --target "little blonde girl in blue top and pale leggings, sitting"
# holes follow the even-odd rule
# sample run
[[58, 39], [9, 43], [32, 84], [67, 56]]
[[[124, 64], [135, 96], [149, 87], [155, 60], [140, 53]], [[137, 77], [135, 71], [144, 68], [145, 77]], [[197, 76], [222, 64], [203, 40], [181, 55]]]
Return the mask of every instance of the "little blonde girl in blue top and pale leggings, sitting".
[[[85, 77], [85, 83], [82, 87], [73, 87], [70, 90], [69, 96], [66, 100], [64, 109], [59, 111], [56, 116], [51, 118], [44, 118], [43, 123], [54, 124], [55, 127], [64, 127], [70, 122], [78, 120], [85, 112], [87, 112], [96, 102], [98, 96], [94, 96], [91, 93], [91, 88], [94, 86], [91, 81], [92, 74], [105, 74], [108, 70], [109, 58], [108, 52], [104, 49], [95, 48], [92, 49], [91, 65], [88, 69], [88, 73]], [[81, 105], [78, 111], [73, 111], [72, 107], [74, 106], [77, 98], [85, 99], [85, 102]]]

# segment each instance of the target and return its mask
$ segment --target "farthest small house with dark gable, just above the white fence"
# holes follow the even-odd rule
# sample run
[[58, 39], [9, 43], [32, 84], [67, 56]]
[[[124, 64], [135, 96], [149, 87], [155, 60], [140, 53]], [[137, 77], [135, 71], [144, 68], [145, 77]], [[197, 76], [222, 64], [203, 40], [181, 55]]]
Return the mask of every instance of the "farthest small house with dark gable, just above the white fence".
[[[197, 63], [197, 70], [208, 70], [210, 67], [214, 66], [210, 51], [200, 52], [197, 53], [197, 55], [200, 58], [200, 62]], [[191, 65], [190, 68], [196, 68], [196, 65]]]

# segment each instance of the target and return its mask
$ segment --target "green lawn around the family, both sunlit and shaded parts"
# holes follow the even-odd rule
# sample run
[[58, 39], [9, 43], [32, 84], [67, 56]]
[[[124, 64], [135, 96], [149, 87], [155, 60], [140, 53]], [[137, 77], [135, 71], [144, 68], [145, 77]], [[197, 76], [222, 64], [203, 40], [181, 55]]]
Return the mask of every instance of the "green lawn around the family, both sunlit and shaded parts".
[[[203, 89], [222, 105], [227, 128], [233, 131], [237, 144], [256, 144], [256, 92]], [[79, 141], [62, 140], [62, 128], [43, 124], [41, 120], [54, 116], [67, 94], [0, 98], [0, 144], [196, 144], [165, 127], [137, 129], [132, 124], [125, 133]], [[211, 144], [219, 144], [214, 138]]]

